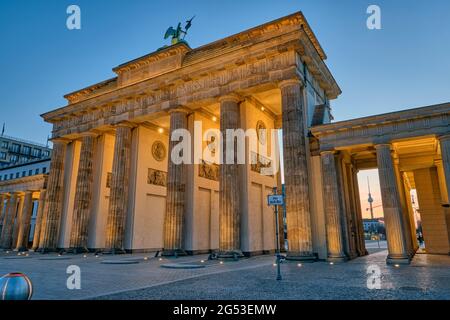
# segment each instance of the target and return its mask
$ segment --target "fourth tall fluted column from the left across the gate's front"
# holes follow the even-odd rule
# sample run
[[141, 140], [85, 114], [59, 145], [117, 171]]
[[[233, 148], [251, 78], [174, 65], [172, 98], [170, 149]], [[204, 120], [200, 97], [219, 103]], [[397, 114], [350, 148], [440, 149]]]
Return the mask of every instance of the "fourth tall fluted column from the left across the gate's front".
[[184, 255], [184, 219], [186, 192], [186, 164], [176, 164], [171, 157], [173, 148], [179, 143], [172, 141], [172, 133], [177, 129], [188, 129], [187, 113], [175, 110], [170, 113], [169, 159], [167, 172], [166, 215], [164, 219], [163, 255]]

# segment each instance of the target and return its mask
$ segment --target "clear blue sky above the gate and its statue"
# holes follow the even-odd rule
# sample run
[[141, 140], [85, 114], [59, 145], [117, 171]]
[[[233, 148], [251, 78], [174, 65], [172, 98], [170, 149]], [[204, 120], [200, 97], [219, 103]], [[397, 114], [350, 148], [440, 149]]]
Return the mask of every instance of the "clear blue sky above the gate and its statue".
[[[70, 4], [81, 7], [81, 30], [66, 28]], [[381, 7], [382, 30], [366, 28], [370, 4]], [[2, 0], [0, 122], [8, 135], [45, 142], [41, 113], [166, 44], [178, 21], [196, 15], [187, 40], [198, 47], [299, 10], [342, 88], [336, 120], [450, 101], [447, 0]]]

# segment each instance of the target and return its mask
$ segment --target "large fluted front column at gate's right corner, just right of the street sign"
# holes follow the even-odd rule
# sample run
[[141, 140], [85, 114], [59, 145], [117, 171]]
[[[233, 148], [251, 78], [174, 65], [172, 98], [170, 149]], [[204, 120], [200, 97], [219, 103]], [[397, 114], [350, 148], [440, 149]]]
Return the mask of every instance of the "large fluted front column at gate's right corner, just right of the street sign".
[[299, 80], [280, 84], [286, 186], [288, 259], [314, 260], [309, 206], [306, 120]]

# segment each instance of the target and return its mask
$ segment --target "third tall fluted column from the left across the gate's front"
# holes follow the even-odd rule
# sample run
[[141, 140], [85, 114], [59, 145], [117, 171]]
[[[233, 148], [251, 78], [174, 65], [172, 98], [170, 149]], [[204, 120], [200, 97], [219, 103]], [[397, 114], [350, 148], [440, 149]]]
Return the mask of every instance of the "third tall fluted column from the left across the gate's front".
[[131, 123], [116, 128], [109, 211], [106, 223], [106, 252], [124, 253], [125, 223], [131, 165]]

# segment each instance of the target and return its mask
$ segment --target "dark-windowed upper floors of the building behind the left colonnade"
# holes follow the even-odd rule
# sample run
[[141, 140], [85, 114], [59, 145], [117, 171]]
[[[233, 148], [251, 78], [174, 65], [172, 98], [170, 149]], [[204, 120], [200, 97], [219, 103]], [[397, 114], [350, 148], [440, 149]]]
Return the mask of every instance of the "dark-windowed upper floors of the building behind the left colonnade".
[[43, 144], [0, 136], [0, 168], [50, 158], [51, 152]]

